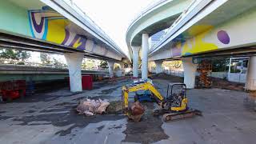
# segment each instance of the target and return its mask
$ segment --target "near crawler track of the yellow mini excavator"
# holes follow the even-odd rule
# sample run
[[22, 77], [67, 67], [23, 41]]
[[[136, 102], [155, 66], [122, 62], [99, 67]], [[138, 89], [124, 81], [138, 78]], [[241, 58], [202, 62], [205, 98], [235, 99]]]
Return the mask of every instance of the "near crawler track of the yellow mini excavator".
[[171, 113], [163, 114], [162, 120], [164, 122], [170, 122], [177, 119], [191, 118], [191, 117], [194, 117], [195, 115], [202, 115], [202, 112], [200, 110], [194, 110], [194, 109], [189, 109], [183, 112], [171, 112]]

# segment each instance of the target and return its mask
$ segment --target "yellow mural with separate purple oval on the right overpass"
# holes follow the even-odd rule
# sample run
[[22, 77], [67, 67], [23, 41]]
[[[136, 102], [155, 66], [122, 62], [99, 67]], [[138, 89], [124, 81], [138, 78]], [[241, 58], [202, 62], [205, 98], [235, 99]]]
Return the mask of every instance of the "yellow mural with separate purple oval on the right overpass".
[[[172, 57], [186, 56], [211, 50], [218, 50], [218, 46], [215, 43], [206, 42], [204, 40], [204, 38], [206, 38], [206, 35], [210, 34], [212, 30], [213, 26], [192, 26], [185, 35], [189, 35], [193, 38], [185, 39], [185, 35], [178, 36], [178, 38], [176, 38], [178, 39], [178, 41], [176, 41], [176, 45], [172, 49], [170, 49], [172, 52]], [[185, 40], [181, 40], [182, 38], [184, 38]], [[229, 34], [227, 34], [225, 30], [219, 30], [216, 34], [216, 38], [218, 38], [218, 41], [222, 42], [222, 44], [230, 43]]]

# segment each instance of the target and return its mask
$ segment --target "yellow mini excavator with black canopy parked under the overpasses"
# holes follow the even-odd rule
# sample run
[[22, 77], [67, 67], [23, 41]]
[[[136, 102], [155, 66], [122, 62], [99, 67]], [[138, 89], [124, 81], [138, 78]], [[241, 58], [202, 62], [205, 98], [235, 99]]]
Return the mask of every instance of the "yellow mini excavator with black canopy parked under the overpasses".
[[122, 86], [122, 101], [126, 115], [129, 114], [129, 93], [137, 92], [138, 90], [149, 90], [151, 92], [151, 97], [155, 100], [154, 102], [157, 102], [158, 106], [161, 107], [160, 110], [154, 111], [154, 115], [163, 115], [162, 119], [165, 122], [181, 118], [190, 118], [194, 115], [202, 115], [200, 110], [194, 110], [188, 107], [186, 84], [170, 83], [167, 87], [166, 97], [163, 97], [162, 94], [155, 89], [150, 79]]

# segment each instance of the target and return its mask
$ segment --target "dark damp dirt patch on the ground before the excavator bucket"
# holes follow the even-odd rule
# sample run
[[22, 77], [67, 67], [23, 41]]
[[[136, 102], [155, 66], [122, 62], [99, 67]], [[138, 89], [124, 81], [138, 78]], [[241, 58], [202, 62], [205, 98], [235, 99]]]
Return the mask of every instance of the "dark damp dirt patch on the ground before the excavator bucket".
[[162, 119], [153, 116], [154, 103], [143, 103], [146, 111], [141, 122], [129, 121], [126, 125], [126, 138], [123, 142], [139, 142], [142, 144], [158, 142], [169, 138], [162, 130]]

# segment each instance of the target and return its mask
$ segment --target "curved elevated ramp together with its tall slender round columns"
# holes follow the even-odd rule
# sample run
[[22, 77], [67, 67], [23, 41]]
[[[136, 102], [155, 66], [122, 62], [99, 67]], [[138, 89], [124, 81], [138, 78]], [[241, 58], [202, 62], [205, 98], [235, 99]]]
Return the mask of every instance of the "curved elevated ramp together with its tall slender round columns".
[[[162, 0], [143, 10], [126, 32], [126, 44], [133, 56], [134, 77], [138, 77], [138, 52], [142, 47], [142, 78], [147, 78], [148, 38], [165, 30], [179, 17], [193, 0]], [[144, 63], [144, 64], [143, 64]]]

